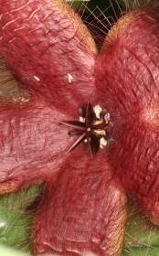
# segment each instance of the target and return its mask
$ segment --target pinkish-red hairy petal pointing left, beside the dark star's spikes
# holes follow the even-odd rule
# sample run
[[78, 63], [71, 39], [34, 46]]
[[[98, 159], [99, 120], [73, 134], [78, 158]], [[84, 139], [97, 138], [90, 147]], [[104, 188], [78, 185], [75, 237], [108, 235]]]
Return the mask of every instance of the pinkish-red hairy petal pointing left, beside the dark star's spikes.
[[58, 123], [59, 116], [38, 100], [1, 106], [1, 194], [56, 176], [71, 143], [67, 129]]

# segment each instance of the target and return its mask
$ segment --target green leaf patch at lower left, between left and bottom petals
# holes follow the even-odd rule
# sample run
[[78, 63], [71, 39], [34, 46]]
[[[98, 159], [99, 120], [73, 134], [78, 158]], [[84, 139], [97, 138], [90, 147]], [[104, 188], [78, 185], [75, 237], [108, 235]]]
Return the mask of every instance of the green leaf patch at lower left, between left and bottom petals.
[[[30, 187], [0, 197], [0, 243], [29, 251], [30, 227], [34, 212], [28, 210], [41, 186]], [[27, 209], [27, 210], [26, 210]]]

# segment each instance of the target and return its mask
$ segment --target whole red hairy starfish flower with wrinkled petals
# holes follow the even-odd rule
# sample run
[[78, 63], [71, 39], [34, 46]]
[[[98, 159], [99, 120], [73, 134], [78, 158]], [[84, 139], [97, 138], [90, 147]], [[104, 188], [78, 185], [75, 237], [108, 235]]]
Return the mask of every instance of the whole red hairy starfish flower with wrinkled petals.
[[122, 16], [98, 52], [64, 0], [0, 1], [0, 52], [30, 93], [1, 101], [0, 193], [45, 181], [33, 254], [121, 255], [125, 194], [159, 224], [158, 22], [153, 7]]

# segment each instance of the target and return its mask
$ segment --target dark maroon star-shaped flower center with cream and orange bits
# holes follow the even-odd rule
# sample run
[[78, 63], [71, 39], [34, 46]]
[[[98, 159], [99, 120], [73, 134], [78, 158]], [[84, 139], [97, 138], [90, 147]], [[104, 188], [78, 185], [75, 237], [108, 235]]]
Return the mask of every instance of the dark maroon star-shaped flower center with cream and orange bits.
[[73, 130], [69, 131], [69, 136], [79, 136], [78, 140], [69, 148], [69, 151], [75, 149], [80, 143], [87, 143], [86, 153], [96, 155], [100, 147], [103, 148], [108, 141], [113, 141], [111, 135], [106, 131], [110, 124], [110, 114], [101, 107], [91, 106], [90, 102], [85, 107], [79, 107], [80, 121], [66, 121], [63, 123]]

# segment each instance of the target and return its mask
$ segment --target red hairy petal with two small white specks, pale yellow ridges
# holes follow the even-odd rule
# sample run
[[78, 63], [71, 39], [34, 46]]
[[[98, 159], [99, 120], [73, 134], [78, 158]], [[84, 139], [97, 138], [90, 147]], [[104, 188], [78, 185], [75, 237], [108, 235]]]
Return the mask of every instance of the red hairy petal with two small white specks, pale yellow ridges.
[[93, 98], [97, 49], [64, 0], [1, 0], [0, 13], [0, 52], [17, 80], [70, 114]]

